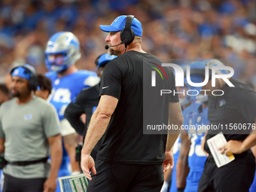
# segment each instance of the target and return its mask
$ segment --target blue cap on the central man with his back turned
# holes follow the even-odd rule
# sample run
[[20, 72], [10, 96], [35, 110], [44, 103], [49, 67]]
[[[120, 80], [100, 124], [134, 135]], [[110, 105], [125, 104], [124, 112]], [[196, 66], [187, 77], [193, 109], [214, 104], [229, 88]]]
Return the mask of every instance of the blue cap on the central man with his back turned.
[[[99, 25], [99, 28], [102, 29], [103, 32], [122, 31], [125, 26], [126, 17], [127, 17], [126, 15], [121, 15], [115, 18], [110, 26]], [[139, 20], [136, 19], [136, 17], [133, 18], [132, 29], [133, 29], [134, 35], [142, 37], [142, 23], [140, 23]]]

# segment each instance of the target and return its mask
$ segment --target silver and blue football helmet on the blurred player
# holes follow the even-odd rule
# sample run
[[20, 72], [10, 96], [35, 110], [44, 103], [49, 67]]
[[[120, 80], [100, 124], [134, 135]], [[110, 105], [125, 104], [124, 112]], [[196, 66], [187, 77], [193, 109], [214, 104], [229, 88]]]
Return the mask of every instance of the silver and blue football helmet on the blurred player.
[[[47, 42], [45, 65], [50, 72], [61, 72], [81, 58], [80, 43], [72, 32], [57, 32]], [[62, 54], [56, 58], [53, 55]]]

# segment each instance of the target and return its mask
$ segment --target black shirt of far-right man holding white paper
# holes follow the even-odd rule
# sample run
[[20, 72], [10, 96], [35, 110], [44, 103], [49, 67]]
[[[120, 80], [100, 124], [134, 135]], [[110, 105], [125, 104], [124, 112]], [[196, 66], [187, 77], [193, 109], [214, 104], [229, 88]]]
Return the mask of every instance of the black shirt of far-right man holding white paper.
[[[251, 133], [256, 117], [256, 93], [239, 80], [230, 78], [230, 82], [235, 87], [225, 84], [221, 89], [223, 96], [209, 96], [208, 119], [218, 130], [208, 130], [206, 140], [222, 132], [227, 141], [242, 141]], [[207, 144], [205, 150], [210, 152]]]

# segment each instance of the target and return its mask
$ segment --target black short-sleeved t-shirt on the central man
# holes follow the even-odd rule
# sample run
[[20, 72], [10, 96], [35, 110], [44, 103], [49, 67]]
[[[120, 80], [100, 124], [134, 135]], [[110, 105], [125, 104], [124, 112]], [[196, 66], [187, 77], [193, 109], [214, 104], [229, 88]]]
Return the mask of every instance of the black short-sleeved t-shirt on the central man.
[[[143, 119], [150, 121], [154, 118], [155, 122], [167, 124], [169, 102], [178, 102], [178, 96], [160, 96], [159, 92], [161, 88], [175, 89], [175, 79], [170, 69], [166, 69], [165, 78], [168, 81], [156, 75], [158, 88], [151, 87], [151, 66], [157, 67], [161, 63], [150, 53], [131, 50], [105, 66], [99, 95], [114, 96], [118, 103], [102, 138], [97, 156], [99, 160], [111, 163], [163, 163], [166, 135], [143, 134], [143, 123], [147, 123]], [[144, 87], [144, 82], [148, 89]], [[158, 90], [152, 91], [154, 88]], [[149, 102], [145, 103], [143, 98]], [[146, 117], [143, 117], [143, 111], [147, 111]]]

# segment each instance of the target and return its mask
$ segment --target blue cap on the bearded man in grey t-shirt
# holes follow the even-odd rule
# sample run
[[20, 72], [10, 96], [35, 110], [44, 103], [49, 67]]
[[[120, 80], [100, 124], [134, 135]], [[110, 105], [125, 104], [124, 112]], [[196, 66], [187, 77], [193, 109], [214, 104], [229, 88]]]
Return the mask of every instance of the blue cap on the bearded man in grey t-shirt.
[[11, 73], [11, 77], [17, 76], [29, 80], [33, 73], [35, 73], [35, 68], [26, 64], [24, 66], [18, 66], [15, 68], [14, 72]]

